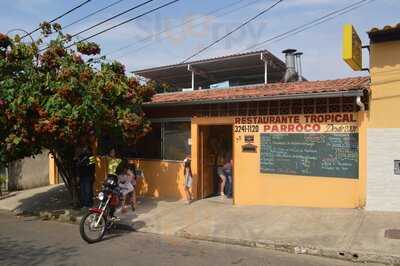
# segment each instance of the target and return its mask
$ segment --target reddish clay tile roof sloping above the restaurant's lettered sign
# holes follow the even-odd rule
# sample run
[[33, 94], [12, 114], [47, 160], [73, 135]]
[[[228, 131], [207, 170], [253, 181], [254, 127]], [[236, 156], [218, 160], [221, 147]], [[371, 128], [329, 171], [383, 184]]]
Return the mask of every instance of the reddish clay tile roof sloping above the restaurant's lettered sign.
[[201, 104], [213, 102], [240, 102], [253, 99], [273, 100], [280, 96], [299, 98], [304, 95], [324, 97], [328, 93], [346, 93], [369, 89], [369, 77], [344, 78], [323, 81], [271, 83], [226, 89], [195, 90], [189, 92], [160, 93], [148, 105]]

